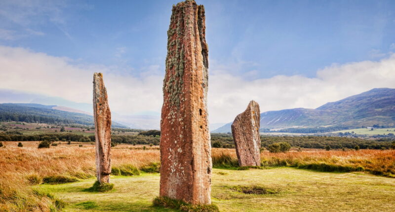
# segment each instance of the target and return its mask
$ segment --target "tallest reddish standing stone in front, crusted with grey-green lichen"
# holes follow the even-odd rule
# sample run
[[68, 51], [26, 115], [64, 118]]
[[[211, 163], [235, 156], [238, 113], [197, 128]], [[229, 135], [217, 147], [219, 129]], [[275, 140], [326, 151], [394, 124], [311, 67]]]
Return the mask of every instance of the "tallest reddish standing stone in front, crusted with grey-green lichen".
[[203, 5], [186, 0], [173, 6], [167, 35], [159, 195], [192, 204], [210, 204], [208, 47]]

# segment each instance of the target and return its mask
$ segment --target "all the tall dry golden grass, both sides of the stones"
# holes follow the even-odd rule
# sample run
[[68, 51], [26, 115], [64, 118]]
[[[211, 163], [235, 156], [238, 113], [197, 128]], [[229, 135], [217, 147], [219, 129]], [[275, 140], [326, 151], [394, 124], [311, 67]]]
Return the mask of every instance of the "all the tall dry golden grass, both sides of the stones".
[[[78, 178], [95, 176], [95, 149], [90, 143], [82, 143], [83, 147], [79, 147], [80, 143], [73, 142], [67, 145], [62, 142], [49, 149], [38, 149], [36, 141], [22, 142], [24, 147], [17, 147], [17, 143], [3, 142], [6, 147], [0, 148], [0, 212], [56, 211], [54, 199], [34, 192], [29, 186], [32, 182], [40, 183], [43, 177], [55, 175]], [[132, 165], [141, 168], [159, 162], [158, 146], [146, 146], [145, 150], [142, 148], [143, 146], [125, 144], [113, 147], [112, 165]], [[223, 155], [237, 164], [235, 149], [213, 148], [214, 165]], [[362, 167], [373, 174], [395, 176], [395, 150], [308, 150], [287, 153], [264, 151], [261, 158], [262, 165], [268, 167], [294, 166], [317, 169], [321, 167], [319, 164], [325, 164], [329, 165], [329, 168], [325, 169], [331, 169], [333, 166], [335, 171], [340, 169], [339, 167]], [[308, 167], [309, 164], [316, 166]]]

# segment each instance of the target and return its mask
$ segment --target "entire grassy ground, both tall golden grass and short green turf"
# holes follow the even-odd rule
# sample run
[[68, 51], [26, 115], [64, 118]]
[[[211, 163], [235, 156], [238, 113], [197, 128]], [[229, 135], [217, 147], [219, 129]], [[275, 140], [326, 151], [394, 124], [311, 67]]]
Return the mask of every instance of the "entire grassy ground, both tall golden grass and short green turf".
[[[23, 141], [24, 147], [17, 147], [15, 141], [3, 143], [0, 212], [56, 212], [63, 202], [67, 212], [171, 211], [153, 208], [159, 175], [143, 172], [144, 167], [159, 162], [158, 146], [143, 149], [122, 144], [113, 148], [113, 168], [141, 171], [126, 170], [133, 177], [112, 176], [114, 190], [92, 193], [84, 189], [95, 180], [94, 145], [62, 142], [38, 149], [37, 141]], [[213, 148], [212, 155], [215, 167], [231, 164], [213, 170], [212, 199], [221, 211], [390, 211], [395, 207], [395, 150], [265, 151], [261, 154], [263, 169], [244, 171], [232, 166], [237, 161], [235, 149]], [[306, 170], [320, 168], [332, 172]], [[336, 170], [344, 172], [333, 172]], [[359, 172], [350, 172], [353, 170]], [[389, 177], [369, 174], [372, 172]], [[56, 177], [77, 182], [45, 184]], [[239, 192], [245, 188], [270, 194]]]

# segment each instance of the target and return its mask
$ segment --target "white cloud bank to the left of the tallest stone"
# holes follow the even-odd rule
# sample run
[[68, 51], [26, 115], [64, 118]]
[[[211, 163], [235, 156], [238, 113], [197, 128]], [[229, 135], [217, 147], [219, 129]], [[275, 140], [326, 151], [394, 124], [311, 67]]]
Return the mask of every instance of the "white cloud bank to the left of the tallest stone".
[[52, 57], [23, 48], [0, 46], [0, 88], [91, 103], [94, 72], [103, 72], [110, 106], [118, 113], [160, 111], [163, 76], [117, 74], [101, 65], [72, 65], [68, 58]]

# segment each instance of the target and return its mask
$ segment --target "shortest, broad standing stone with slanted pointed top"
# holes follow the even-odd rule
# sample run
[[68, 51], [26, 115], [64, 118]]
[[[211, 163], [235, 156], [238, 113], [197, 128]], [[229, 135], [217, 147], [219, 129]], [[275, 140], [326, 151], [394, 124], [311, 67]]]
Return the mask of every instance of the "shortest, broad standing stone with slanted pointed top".
[[239, 166], [261, 165], [260, 120], [259, 105], [252, 100], [247, 109], [236, 116], [232, 124], [232, 135], [236, 145]]

